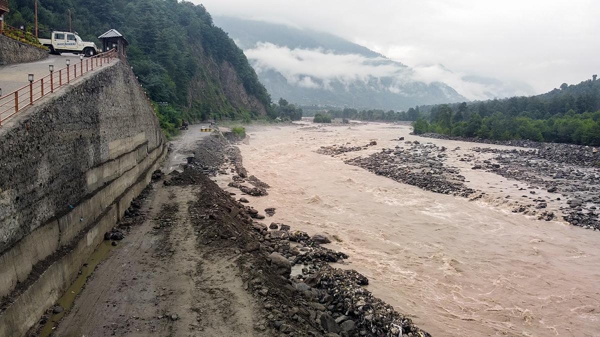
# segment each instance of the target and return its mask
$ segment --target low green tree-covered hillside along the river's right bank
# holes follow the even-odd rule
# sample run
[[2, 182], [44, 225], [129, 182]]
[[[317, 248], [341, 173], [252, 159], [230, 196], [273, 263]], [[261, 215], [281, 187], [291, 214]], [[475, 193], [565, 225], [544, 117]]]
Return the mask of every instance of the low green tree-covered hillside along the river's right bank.
[[415, 133], [600, 145], [600, 80], [532, 97], [419, 107]]

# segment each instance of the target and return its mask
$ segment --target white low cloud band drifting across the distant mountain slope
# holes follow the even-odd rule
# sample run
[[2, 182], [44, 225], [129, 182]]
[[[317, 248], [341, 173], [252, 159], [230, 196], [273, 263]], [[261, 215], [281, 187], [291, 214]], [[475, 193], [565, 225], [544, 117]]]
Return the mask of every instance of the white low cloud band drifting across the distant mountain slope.
[[[509, 86], [497, 80], [473, 79], [467, 74], [454, 73], [442, 65], [409, 68], [383, 57], [337, 54], [324, 49], [290, 49], [265, 42], [245, 50], [245, 54], [258, 73], [278, 71], [288, 83], [302, 88], [330, 90], [332, 82], [340, 82], [344, 86], [362, 82], [375, 85], [381, 91], [404, 95], [402, 87], [407, 83], [423, 82], [429, 85], [442, 82], [469, 100], [532, 94], [532, 90], [526, 86], [522, 86], [521, 91], [515, 91], [514, 83]], [[386, 79], [388, 84], [381, 85], [382, 79]]]

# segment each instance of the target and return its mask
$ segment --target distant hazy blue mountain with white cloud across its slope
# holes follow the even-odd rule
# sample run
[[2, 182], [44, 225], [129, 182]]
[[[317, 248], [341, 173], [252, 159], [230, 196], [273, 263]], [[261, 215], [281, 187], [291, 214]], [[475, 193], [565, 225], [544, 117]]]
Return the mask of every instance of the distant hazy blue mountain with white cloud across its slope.
[[533, 94], [524, 83], [465, 76], [439, 64], [407, 67], [325, 32], [235, 17], [214, 20], [244, 49], [272, 97], [293, 103], [403, 110]]

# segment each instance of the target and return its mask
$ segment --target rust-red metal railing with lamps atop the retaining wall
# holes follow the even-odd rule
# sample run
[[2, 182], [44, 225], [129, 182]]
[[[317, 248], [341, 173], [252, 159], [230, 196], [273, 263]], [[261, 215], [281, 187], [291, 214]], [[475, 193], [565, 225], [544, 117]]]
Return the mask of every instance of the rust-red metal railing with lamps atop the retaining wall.
[[119, 58], [119, 55], [115, 49], [112, 49], [91, 58], [79, 59], [79, 62], [69, 64], [58, 71], [53, 70], [53, 65], [50, 65], [50, 74], [36, 81], [34, 81], [34, 76], [29, 74], [29, 85], [5, 96], [0, 94], [0, 127], [2, 122], [17, 115], [26, 107], [33, 105], [40, 98], [52, 94], [61, 86], [71, 83], [74, 79], [82, 77], [94, 68], [109, 64], [110, 61], [116, 58]]

